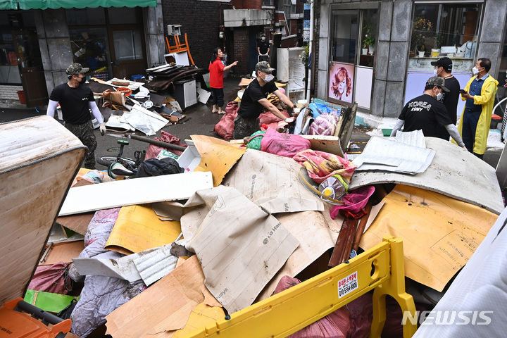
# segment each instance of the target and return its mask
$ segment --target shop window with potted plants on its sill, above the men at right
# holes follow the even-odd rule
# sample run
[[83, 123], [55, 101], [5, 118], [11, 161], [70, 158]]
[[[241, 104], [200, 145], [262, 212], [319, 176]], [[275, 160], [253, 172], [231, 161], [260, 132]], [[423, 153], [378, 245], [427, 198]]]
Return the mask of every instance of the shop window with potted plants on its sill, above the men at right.
[[416, 4], [411, 57], [474, 58], [482, 4]]

